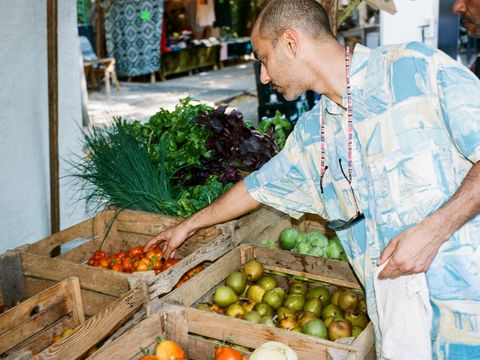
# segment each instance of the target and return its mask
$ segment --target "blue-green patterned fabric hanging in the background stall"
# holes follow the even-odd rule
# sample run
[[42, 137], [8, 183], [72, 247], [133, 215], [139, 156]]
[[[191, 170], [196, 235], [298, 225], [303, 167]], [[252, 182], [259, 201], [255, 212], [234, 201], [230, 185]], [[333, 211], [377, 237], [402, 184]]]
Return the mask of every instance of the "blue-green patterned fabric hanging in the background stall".
[[160, 69], [163, 0], [107, 0], [105, 39], [120, 76], [150, 74]]

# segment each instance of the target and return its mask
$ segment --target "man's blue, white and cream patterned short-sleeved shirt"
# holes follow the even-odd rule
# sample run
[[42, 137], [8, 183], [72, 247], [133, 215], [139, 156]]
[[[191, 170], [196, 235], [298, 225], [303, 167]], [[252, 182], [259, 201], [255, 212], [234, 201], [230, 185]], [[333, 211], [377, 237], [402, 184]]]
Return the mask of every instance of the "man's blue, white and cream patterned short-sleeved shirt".
[[[480, 158], [480, 81], [419, 43], [355, 47], [353, 189], [365, 219], [338, 232], [363, 283], [380, 349], [373, 275], [400, 232], [444, 204]], [[344, 98], [346, 105], [346, 97]], [[328, 170], [320, 192], [320, 113]], [[347, 171], [345, 111], [325, 96], [297, 123], [284, 150], [245, 178], [258, 201], [298, 217], [355, 214]], [[458, 230], [426, 273], [434, 310], [434, 359], [480, 359], [480, 217]]]

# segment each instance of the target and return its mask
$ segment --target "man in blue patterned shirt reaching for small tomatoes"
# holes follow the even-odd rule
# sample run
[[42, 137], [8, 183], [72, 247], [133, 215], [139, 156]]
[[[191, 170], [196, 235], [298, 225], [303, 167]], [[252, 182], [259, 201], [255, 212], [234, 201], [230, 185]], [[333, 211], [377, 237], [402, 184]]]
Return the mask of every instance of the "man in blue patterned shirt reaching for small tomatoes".
[[263, 83], [287, 100], [324, 96], [282, 152], [146, 248], [166, 241], [168, 256], [260, 203], [317, 213], [365, 287], [378, 356], [383, 265], [379, 278], [426, 272], [435, 358], [480, 358], [480, 98], [466, 95], [480, 92], [478, 79], [419, 43], [347, 50], [315, 0], [270, 1], [252, 42]]

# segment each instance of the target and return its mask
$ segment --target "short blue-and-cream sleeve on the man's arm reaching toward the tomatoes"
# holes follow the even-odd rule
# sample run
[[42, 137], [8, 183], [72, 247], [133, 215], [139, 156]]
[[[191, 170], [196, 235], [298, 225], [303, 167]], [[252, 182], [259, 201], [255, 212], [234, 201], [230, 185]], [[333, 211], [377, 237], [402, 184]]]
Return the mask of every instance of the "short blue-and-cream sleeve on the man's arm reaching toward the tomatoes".
[[244, 179], [250, 195], [294, 218], [303, 213], [323, 214], [323, 205], [315, 190], [303, 136], [305, 119], [300, 119], [283, 150], [261, 169]]

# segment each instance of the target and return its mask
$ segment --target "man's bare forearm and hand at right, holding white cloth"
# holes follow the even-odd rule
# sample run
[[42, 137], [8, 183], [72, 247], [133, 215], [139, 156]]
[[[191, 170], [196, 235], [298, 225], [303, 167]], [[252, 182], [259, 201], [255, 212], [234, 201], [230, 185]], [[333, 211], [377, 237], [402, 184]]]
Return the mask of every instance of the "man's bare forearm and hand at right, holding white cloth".
[[390, 241], [377, 263], [381, 265], [388, 260], [378, 278], [427, 271], [440, 246], [479, 213], [480, 162], [477, 162], [444, 206]]

